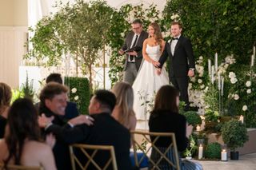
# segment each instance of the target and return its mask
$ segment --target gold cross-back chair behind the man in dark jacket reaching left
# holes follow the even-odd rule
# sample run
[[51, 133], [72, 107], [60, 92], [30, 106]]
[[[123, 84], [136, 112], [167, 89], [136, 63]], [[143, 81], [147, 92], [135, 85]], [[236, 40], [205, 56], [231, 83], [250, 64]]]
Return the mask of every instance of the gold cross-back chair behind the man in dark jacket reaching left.
[[[99, 164], [95, 160], [96, 155], [100, 152], [108, 152], [110, 157], [106, 160], [106, 164]], [[82, 157], [85, 158], [86, 163], [83, 163], [81, 157], [78, 158], [76, 152], [81, 152]], [[81, 154], [79, 156], [81, 156]], [[70, 158], [73, 170], [87, 169], [88, 167], [98, 170], [105, 170], [107, 168], [117, 170], [117, 162], [114, 154], [114, 147], [111, 145], [94, 145], [94, 144], [71, 144], [70, 145]]]

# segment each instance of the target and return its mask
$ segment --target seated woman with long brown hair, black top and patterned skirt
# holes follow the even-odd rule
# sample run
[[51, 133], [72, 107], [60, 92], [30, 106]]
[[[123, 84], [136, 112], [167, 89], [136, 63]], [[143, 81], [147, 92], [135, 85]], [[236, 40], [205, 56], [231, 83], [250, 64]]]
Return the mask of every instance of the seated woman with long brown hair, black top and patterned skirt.
[[[192, 125], [188, 126], [186, 123], [186, 117], [178, 113], [179, 93], [173, 86], [163, 85], [156, 94], [154, 101], [154, 109], [150, 114], [149, 128], [150, 132], [174, 132], [178, 152], [182, 152], [189, 144], [189, 136], [192, 132]], [[154, 140], [154, 137], [151, 137]], [[155, 145], [162, 152], [166, 151], [166, 148], [170, 145], [171, 140], [165, 137], [159, 138]], [[170, 160], [173, 160], [172, 151], [167, 152], [167, 156]], [[150, 158], [158, 160], [160, 155], [153, 148]], [[161, 169], [173, 169], [166, 161], [162, 160], [159, 164]], [[180, 159], [181, 169], [194, 169], [201, 170], [201, 164], [182, 161]], [[152, 164], [150, 164], [152, 168]]]

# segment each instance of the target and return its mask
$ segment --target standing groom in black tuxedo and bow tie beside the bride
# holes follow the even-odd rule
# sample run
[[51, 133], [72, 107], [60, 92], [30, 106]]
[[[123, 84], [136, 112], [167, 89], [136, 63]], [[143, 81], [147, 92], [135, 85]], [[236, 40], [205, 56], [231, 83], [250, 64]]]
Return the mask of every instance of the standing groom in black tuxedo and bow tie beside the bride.
[[194, 76], [194, 53], [191, 42], [182, 36], [182, 25], [179, 22], [172, 22], [170, 42], [166, 42], [162, 56], [159, 58], [158, 73], [167, 57], [170, 57], [169, 77], [171, 83], [180, 91], [181, 101], [185, 101], [185, 110], [189, 109], [188, 84], [189, 77]]

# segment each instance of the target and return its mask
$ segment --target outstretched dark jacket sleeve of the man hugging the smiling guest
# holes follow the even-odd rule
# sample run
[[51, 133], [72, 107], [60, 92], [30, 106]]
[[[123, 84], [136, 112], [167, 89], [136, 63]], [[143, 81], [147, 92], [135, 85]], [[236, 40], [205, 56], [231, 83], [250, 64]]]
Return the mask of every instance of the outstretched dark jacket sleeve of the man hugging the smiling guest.
[[50, 125], [46, 129], [46, 132], [54, 133], [57, 140], [66, 142], [67, 144], [74, 144], [85, 140], [89, 134], [89, 127], [87, 125], [78, 125], [71, 128], [70, 125], [64, 126]]

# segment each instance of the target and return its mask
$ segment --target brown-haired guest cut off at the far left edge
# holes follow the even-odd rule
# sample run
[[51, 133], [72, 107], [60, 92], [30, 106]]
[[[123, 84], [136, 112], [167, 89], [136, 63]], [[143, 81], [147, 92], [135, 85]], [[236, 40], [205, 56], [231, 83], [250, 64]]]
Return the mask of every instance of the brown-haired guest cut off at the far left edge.
[[6, 83], [0, 82], [0, 138], [5, 134], [7, 113], [10, 107], [11, 89]]

